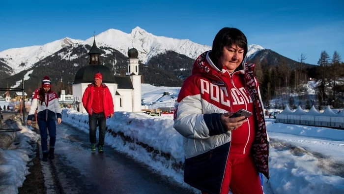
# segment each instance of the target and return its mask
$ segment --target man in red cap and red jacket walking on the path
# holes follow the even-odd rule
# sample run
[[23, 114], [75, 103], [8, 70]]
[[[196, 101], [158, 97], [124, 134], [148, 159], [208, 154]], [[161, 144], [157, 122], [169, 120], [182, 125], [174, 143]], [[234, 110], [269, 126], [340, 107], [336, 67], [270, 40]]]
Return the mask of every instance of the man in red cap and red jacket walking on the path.
[[95, 151], [97, 142], [97, 122], [99, 125], [98, 152], [104, 152], [104, 139], [106, 132], [106, 119], [114, 116], [114, 101], [109, 88], [102, 83], [101, 73], [94, 75], [94, 83], [89, 84], [83, 96], [83, 105], [88, 113], [89, 140], [91, 150]]

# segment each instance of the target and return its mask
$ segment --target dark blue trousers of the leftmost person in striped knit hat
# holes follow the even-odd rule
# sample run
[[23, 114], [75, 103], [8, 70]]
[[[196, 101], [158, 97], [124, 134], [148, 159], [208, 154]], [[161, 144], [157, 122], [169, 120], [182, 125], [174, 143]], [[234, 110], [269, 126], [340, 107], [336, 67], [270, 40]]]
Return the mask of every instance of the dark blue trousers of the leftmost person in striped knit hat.
[[49, 145], [50, 147], [55, 147], [55, 141], [56, 141], [56, 124], [55, 121], [44, 121], [44, 120], [38, 120], [38, 127], [39, 131], [41, 133], [41, 145], [42, 145], [42, 152], [48, 152], [48, 133], [47, 128], [49, 130]]

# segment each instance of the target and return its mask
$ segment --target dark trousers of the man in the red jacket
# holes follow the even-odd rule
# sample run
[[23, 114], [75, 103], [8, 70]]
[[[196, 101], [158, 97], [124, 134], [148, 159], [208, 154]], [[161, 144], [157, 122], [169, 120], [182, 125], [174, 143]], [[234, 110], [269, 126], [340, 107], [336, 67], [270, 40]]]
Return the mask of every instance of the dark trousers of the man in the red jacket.
[[99, 143], [98, 145], [104, 145], [105, 132], [106, 132], [106, 118], [104, 112], [88, 114], [88, 124], [89, 124], [89, 140], [92, 144], [97, 142], [96, 131], [97, 122], [99, 125]]

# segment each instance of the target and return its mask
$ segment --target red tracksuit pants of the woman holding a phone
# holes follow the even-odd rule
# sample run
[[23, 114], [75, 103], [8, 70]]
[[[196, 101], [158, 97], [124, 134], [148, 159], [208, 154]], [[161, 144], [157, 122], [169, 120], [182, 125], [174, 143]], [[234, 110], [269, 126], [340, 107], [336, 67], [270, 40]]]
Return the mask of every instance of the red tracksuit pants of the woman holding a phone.
[[233, 194], [263, 194], [258, 170], [251, 155], [230, 153], [228, 162], [229, 188]]

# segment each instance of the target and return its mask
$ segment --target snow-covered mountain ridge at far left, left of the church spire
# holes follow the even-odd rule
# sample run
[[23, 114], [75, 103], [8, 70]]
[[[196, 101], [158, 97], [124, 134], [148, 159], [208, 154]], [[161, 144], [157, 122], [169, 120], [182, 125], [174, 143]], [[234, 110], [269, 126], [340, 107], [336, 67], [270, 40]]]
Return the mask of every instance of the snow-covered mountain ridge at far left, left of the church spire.
[[23, 48], [12, 48], [0, 52], [0, 58], [6, 65], [12, 67], [16, 74], [22, 70], [30, 68], [36, 62], [48, 57], [60, 49], [75, 43], [81, 43], [83, 40], [75, 40], [65, 37], [42, 46], [29, 46]]

